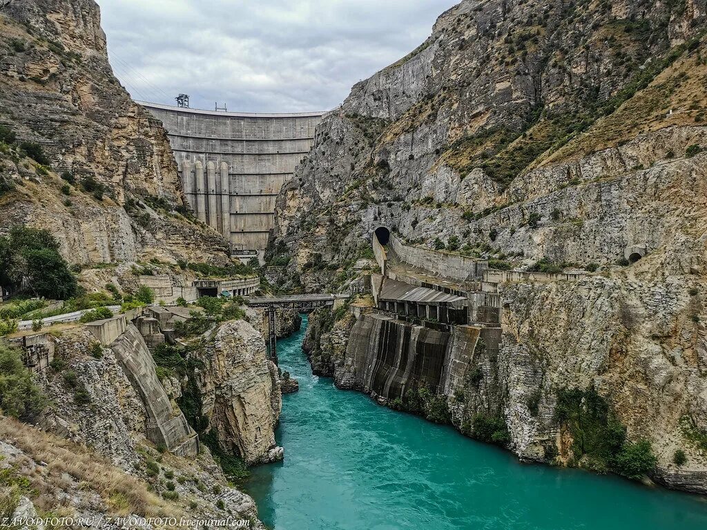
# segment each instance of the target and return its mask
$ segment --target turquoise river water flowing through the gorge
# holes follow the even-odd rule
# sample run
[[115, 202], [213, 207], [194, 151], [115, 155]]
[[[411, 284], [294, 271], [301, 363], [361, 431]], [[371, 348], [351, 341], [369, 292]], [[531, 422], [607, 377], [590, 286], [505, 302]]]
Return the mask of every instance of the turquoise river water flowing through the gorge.
[[521, 464], [452, 428], [376, 405], [312, 375], [306, 318], [278, 341], [285, 459], [259, 466], [247, 491], [276, 530], [707, 529], [701, 497], [614, 476]]

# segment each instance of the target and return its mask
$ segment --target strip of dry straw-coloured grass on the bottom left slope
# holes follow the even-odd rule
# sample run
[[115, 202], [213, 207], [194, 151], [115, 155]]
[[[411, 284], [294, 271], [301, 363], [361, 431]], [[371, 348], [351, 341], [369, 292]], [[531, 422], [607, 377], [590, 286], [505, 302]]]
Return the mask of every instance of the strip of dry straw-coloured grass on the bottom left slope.
[[[34, 494], [30, 497], [40, 509], [55, 511], [56, 493], [71, 488], [75, 481], [78, 489], [100, 497], [107, 514], [136, 514], [142, 517], [180, 517], [184, 514], [180, 506], [151, 493], [144, 481], [128, 475], [74, 442], [5, 416], [0, 416], [0, 440], [21, 449], [36, 462], [47, 462], [46, 468], [37, 466], [33, 471], [27, 471], [32, 470], [33, 466], [13, 463], [14, 467], [25, 470], [24, 479], [29, 481], [29, 491]], [[64, 473], [73, 481], [68, 480]]]

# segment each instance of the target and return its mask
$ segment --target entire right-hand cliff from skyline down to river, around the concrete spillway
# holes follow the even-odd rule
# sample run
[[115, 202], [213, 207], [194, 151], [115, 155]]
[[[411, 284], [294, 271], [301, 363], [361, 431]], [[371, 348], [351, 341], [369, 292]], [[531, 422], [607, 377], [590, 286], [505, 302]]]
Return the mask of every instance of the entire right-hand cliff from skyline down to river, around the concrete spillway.
[[462, 1], [354, 86], [279, 196], [285, 281], [346, 288], [379, 225], [491, 266], [588, 272], [498, 285], [500, 336], [447, 338], [444, 405], [405, 403], [401, 387], [433, 382], [403, 370], [428, 343], [402, 322], [315, 316], [312, 367], [523, 458], [602, 469], [563, 416], [596, 399], [652, 443], [656, 480], [705, 492], [705, 16], [691, 0]]

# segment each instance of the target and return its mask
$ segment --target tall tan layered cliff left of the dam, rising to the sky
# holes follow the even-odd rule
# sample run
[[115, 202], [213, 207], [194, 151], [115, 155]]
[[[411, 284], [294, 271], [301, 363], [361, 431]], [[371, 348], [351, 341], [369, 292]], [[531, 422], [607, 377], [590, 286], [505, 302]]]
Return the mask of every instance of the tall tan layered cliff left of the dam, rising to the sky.
[[76, 264], [223, 261], [161, 124], [112, 74], [93, 0], [0, 5], [0, 125], [0, 228], [47, 228]]

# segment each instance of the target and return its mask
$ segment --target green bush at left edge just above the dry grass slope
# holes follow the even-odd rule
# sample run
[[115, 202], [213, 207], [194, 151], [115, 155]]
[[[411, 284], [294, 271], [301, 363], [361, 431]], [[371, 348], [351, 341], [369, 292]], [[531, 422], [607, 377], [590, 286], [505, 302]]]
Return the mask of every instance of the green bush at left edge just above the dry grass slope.
[[0, 344], [0, 410], [7, 416], [32, 422], [47, 399], [22, 363], [21, 352]]

